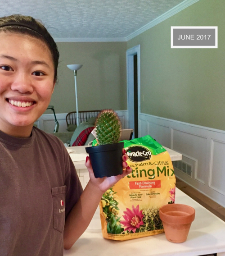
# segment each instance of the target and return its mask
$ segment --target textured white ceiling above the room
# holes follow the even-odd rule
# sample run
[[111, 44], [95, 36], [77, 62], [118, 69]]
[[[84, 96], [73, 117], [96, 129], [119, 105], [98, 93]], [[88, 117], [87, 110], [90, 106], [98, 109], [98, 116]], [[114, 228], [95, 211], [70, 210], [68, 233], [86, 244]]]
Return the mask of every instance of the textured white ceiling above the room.
[[0, 0], [0, 16], [23, 14], [40, 19], [56, 41], [126, 41], [130, 34], [185, 1]]

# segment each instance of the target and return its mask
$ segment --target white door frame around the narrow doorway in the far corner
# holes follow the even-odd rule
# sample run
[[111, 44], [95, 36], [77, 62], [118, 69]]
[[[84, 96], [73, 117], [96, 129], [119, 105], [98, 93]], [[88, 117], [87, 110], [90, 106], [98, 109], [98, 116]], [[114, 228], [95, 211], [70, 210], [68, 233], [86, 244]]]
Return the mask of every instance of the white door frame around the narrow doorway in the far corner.
[[[134, 55], [137, 55], [138, 71], [138, 136], [139, 114], [140, 114], [140, 45], [126, 50], [126, 83], [127, 83], [127, 110], [128, 110], [128, 128], [135, 128], [134, 123]], [[134, 135], [133, 135], [134, 136]]]

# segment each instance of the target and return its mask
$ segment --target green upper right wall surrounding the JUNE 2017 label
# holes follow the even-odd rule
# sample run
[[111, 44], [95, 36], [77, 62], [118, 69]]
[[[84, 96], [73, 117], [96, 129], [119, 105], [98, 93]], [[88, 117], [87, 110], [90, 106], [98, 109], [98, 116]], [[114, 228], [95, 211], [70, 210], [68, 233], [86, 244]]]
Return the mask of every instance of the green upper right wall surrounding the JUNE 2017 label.
[[[218, 49], [171, 49], [171, 26], [218, 26]], [[127, 49], [139, 44], [141, 112], [225, 130], [225, 0], [200, 0]]]

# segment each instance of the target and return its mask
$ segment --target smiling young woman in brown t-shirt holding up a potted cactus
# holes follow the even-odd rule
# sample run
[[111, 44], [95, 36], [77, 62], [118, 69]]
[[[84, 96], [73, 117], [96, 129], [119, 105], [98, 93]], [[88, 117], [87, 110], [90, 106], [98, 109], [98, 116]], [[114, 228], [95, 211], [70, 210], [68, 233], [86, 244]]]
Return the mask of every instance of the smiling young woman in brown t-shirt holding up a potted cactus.
[[33, 127], [57, 78], [58, 49], [35, 19], [0, 18], [0, 255], [62, 256], [85, 231], [102, 194], [131, 172], [94, 178], [82, 190], [57, 137]]

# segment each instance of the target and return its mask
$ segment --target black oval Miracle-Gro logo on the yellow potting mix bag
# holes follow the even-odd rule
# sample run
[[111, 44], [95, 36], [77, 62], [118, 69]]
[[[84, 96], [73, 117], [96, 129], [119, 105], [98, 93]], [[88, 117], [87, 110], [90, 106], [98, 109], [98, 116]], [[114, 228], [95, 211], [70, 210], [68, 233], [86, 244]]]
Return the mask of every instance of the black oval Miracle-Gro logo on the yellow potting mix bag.
[[126, 150], [126, 154], [132, 162], [142, 162], [145, 160], [150, 160], [152, 155], [151, 151], [143, 146], [128, 147]]

